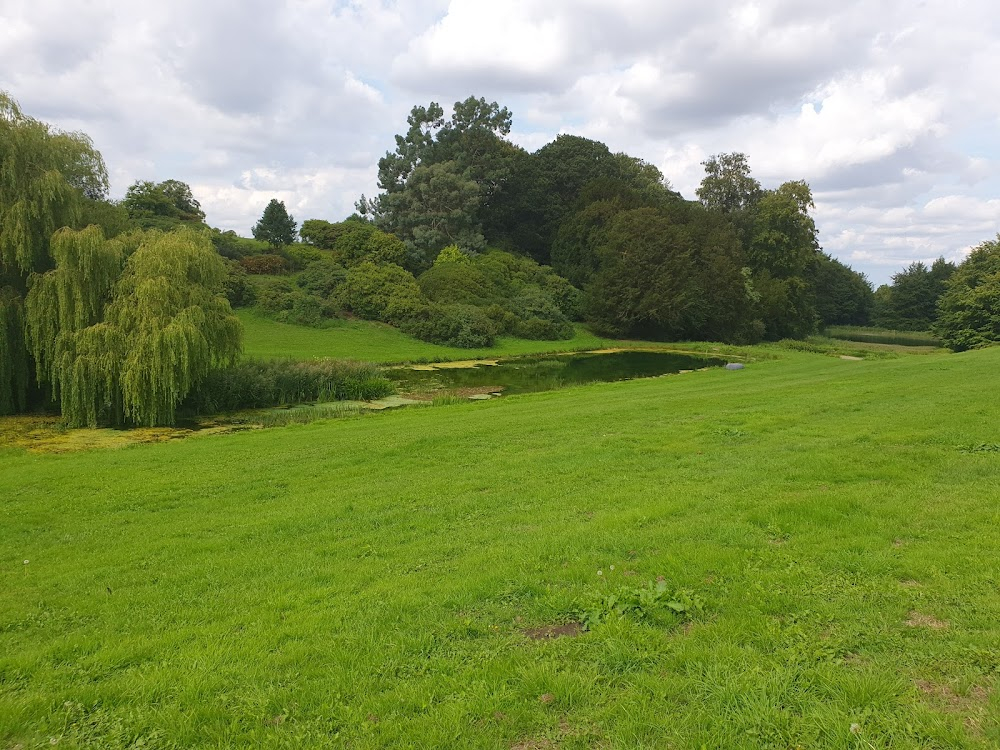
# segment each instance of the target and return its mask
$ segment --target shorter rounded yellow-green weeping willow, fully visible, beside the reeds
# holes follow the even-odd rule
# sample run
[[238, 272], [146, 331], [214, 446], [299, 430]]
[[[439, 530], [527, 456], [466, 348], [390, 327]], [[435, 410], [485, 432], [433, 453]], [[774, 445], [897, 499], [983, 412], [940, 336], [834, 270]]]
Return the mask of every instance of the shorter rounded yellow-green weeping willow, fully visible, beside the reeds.
[[165, 425], [210, 371], [239, 356], [242, 327], [222, 296], [206, 235], [64, 230], [56, 267], [32, 279], [27, 319], [39, 377], [70, 425]]

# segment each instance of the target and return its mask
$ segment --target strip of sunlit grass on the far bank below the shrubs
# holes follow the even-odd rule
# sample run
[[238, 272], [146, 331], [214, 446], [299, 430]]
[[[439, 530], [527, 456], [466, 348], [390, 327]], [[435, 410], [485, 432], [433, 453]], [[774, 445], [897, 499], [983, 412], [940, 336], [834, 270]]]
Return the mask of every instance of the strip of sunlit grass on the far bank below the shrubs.
[[244, 350], [252, 357], [348, 357], [368, 362], [414, 362], [479, 359], [482, 357], [534, 354], [538, 352], [596, 349], [617, 344], [577, 328], [570, 341], [528, 341], [501, 338], [489, 349], [459, 349], [454, 346], [428, 344], [392, 326], [365, 320], [340, 321], [332, 328], [278, 323], [249, 310], [239, 310], [245, 330]]

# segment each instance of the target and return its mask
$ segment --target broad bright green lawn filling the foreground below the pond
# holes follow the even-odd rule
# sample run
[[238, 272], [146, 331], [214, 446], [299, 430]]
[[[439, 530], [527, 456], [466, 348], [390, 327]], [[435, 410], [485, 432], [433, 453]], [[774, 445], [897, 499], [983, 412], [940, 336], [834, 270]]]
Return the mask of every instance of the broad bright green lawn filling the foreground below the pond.
[[[0, 747], [997, 747], [998, 368], [0, 453]], [[656, 576], [704, 614], [520, 633]]]

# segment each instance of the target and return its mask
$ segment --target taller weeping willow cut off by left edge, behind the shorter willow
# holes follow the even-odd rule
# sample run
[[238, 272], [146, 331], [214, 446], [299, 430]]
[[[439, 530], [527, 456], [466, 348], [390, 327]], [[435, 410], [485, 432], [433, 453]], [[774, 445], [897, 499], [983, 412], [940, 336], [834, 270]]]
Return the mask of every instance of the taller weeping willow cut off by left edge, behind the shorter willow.
[[52, 268], [50, 238], [77, 224], [84, 196], [107, 188], [104, 162], [87, 136], [28, 117], [0, 91], [0, 414], [26, 407], [33, 379], [28, 278]]

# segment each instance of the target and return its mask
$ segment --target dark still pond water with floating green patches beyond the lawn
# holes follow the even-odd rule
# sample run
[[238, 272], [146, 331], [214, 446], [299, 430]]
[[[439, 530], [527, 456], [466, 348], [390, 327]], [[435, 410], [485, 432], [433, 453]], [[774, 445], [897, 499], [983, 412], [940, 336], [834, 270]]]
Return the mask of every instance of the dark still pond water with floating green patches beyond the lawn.
[[[620, 351], [538, 355], [473, 366], [399, 367], [386, 371], [400, 393], [535, 393], [580, 383], [631, 380], [721, 367], [724, 359], [673, 352]], [[419, 366], [418, 366], [419, 367]], [[431, 369], [428, 369], [428, 368]]]

